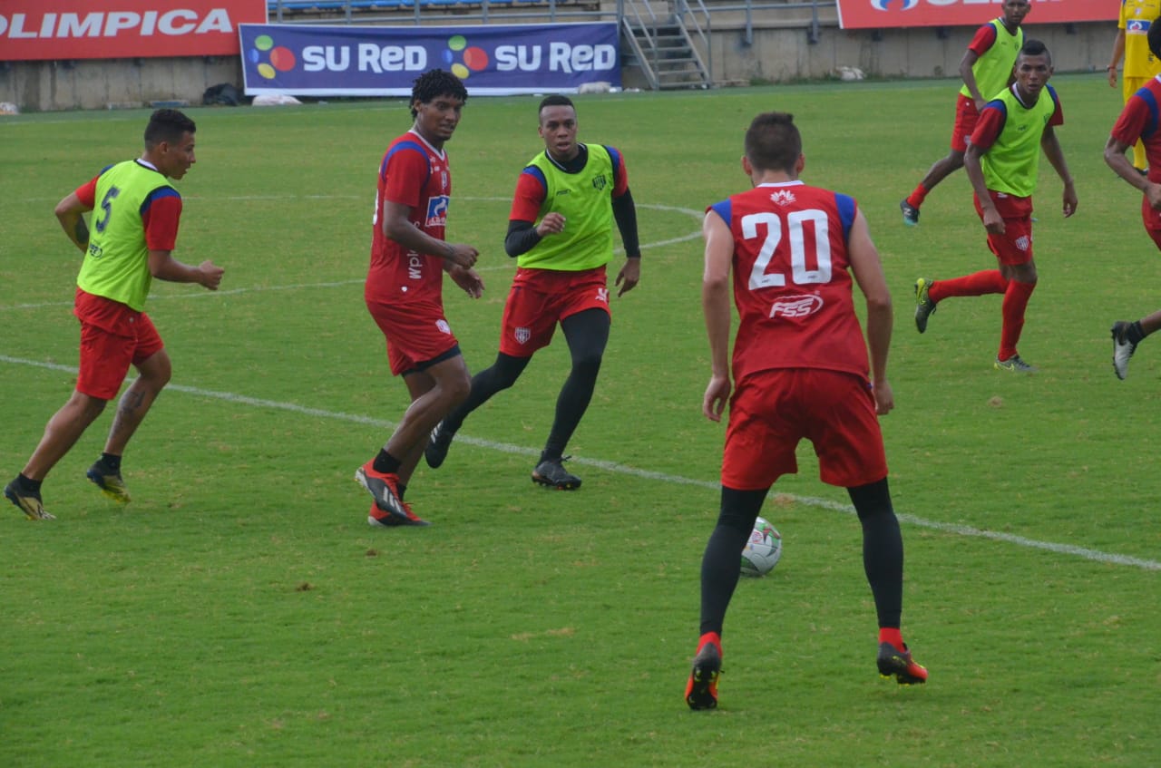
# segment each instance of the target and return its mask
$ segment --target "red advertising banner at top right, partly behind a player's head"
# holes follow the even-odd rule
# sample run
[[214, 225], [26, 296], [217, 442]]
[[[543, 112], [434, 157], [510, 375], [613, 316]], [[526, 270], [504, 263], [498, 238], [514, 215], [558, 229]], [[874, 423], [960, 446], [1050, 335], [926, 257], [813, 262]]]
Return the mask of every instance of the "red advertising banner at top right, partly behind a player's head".
[[[1002, 15], [1002, 0], [838, 0], [843, 29], [979, 27]], [[1032, 0], [1024, 26], [1117, 21], [1117, 0]], [[1110, 32], [1111, 34], [1111, 32]]]

